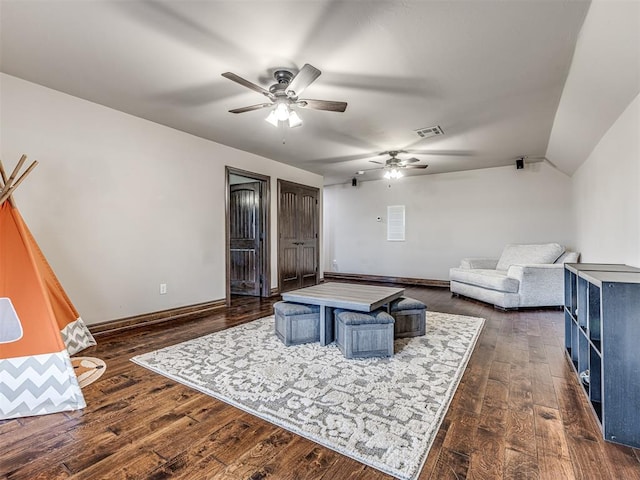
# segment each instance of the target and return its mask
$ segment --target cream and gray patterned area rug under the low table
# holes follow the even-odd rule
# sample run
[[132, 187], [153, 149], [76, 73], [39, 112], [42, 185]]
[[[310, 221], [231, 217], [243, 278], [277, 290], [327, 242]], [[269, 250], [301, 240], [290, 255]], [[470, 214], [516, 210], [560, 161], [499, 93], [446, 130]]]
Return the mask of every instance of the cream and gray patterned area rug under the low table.
[[392, 358], [285, 347], [273, 316], [133, 362], [401, 479], [417, 478], [484, 320], [427, 312]]

